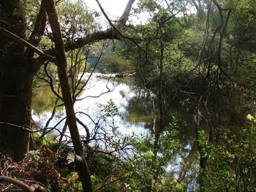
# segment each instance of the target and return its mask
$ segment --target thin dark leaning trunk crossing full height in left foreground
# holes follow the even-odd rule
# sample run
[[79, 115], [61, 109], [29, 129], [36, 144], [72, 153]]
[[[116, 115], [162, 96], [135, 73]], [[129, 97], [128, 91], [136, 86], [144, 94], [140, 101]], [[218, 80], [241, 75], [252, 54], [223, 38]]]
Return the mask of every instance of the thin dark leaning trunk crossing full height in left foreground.
[[91, 174], [89, 171], [89, 166], [87, 165], [85, 155], [83, 153], [83, 145], [80, 140], [80, 134], [78, 131], [78, 126], [76, 123], [75, 110], [73, 107], [73, 101], [71, 96], [71, 90], [69, 87], [68, 77], [67, 77], [67, 58], [64, 50], [64, 42], [61, 37], [61, 26], [59, 24], [58, 15], [56, 12], [56, 7], [53, 0], [45, 1], [46, 11], [48, 13], [48, 18], [50, 21], [50, 27], [53, 31], [53, 41], [56, 46], [56, 59], [58, 66], [59, 81], [61, 84], [61, 93], [64, 100], [66, 115], [67, 115], [67, 125], [69, 126], [69, 131], [71, 134], [72, 142], [75, 149], [75, 164], [78, 169], [78, 174], [80, 180], [83, 184], [83, 191], [93, 191], [91, 183]]

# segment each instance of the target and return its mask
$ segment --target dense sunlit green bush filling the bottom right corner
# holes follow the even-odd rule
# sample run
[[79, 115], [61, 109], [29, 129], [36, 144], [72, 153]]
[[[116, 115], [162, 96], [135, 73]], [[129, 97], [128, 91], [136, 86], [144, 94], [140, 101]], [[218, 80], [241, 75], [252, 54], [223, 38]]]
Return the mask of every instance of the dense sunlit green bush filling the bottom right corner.
[[251, 127], [222, 129], [220, 145], [211, 145], [198, 182], [203, 191], [255, 191], [256, 131]]

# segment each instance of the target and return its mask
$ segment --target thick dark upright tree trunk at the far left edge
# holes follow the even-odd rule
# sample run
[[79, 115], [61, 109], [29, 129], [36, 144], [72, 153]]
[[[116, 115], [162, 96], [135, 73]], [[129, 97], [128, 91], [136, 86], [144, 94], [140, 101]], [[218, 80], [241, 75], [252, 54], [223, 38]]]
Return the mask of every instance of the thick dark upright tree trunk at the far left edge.
[[[1, 27], [24, 39], [26, 19], [21, 1], [1, 0], [0, 10]], [[23, 54], [23, 45], [0, 34], [0, 152], [15, 161], [22, 160], [29, 150], [29, 132], [10, 124], [31, 126], [32, 77]]]

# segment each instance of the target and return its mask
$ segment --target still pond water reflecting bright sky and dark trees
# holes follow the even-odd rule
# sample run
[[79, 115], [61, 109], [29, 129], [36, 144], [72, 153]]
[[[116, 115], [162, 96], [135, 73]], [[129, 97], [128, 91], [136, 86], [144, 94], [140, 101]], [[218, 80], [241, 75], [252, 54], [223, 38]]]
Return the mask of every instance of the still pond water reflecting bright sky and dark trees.
[[[88, 76], [89, 74], [87, 74]], [[113, 79], [110, 80], [108, 75], [104, 77], [103, 74], [94, 74], [79, 98], [81, 100], [75, 102], [75, 112], [90, 131], [95, 126], [91, 121], [99, 119], [102, 109], [100, 105], [106, 104], [112, 99], [118, 107], [118, 115], [115, 116], [114, 123], [118, 127], [116, 131], [119, 134], [127, 136], [151, 134], [150, 127], [153, 123], [151, 99], [146, 91], [133, 85], [132, 79], [126, 77], [125, 81], [118, 80], [117, 82]], [[193, 115], [189, 108], [181, 106], [181, 104], [174, 104], [170, 113], [177, 119], [176, 139], [180, 145], [177, 153], [173, 154], [173, 158], [166, 166], [166, 171], [170, 177], [187, 185], [187, 191], [192, 191], [197, 185], [195, 178], [199, 164]], [[50, 115], [51, 112], [45, 110], [34, 112], [33, 118], [40, 127], [44, 127]], [[50, 121], [49, 127], [56, 126], [64, 116], [64, 110], [57, 111], [53, 120]], [[64, 121], [59, 123], [57, 128], [61, 129], [63, 126]], [[86, 135], [86, 131], [81, 126], [80, 134]]]

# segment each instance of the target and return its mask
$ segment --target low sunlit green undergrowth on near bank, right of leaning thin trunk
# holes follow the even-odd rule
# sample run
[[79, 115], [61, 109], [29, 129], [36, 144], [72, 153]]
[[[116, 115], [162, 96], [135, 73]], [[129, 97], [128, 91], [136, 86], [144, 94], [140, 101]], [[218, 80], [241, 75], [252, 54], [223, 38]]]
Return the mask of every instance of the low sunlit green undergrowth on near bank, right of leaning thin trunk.
[[[111, 110], [112, 111], [112, 110]], [[181, 183], [168, 177], [167, 164], [177, 150], [176, 123], [165, 128], [160, 135], [161, 149], [154, 155], [153, 137], [131, 136], [122, 141], [129, 145], [128, 153], [117, 158], [110, 153], [95, 153], [88, 157], [91, 179], [96, 191], [183, 191]], [[119, 144], [120, 145], [120, 144]], [[156, 175], [154, 183], [152, 179]]]

